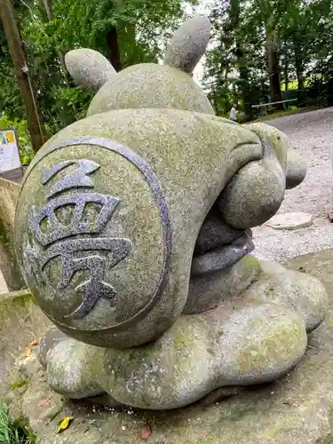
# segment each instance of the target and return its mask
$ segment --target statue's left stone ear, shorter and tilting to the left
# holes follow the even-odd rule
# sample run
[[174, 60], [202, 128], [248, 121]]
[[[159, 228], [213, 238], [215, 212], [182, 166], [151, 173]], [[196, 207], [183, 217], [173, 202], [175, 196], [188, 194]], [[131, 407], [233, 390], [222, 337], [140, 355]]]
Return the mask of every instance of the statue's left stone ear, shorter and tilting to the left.
[[110, 77], [116, 75], [111, 63], [102, 54], [90, 49], [67, 52], [65, 64], [75, 83], [91, 92], [99, 91]]

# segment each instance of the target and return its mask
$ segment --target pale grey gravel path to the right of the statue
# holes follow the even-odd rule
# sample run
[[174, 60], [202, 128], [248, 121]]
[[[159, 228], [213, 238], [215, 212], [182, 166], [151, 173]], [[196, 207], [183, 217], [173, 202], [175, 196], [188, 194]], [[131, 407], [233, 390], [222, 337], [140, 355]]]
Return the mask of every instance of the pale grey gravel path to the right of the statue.
[[333, 107], [271, 120], [285, 132], [299, 155], [308, 162], [304, 182], [287, 191], [279, 213], [303, 211], [313, 215], [313, 226], [297, 231], [278, 231], [267, 226], [253, 230], [258, 258], [283, 262], [312, 251], [333, 249], [333, 172], [329, 145], [333, 144]]

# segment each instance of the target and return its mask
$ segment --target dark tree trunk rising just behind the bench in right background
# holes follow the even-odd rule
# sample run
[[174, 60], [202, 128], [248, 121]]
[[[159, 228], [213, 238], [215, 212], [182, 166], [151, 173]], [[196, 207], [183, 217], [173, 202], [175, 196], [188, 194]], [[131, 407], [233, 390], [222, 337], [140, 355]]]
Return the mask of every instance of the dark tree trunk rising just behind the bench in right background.
[[[266, 57], [271, 89], [271, 100], [280, 102], [282, 100], [280, 83], [280, 64], [277, 52], [277, 37], [274, 29], [266, 30]], [[276, 105], [277, 109], [283, 109], [283, 103]]]

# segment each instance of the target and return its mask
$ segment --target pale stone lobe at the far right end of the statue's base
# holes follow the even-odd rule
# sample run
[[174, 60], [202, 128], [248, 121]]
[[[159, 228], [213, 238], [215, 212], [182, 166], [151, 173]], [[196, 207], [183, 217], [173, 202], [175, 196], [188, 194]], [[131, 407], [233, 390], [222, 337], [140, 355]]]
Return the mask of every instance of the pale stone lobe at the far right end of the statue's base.
[[262, 276], [243, 294], [250, 300], [286, 304], [305, 321], [306, 331], [316, 329], [324, 320], [328, 295], [318, 279], [308, 274], [285, 269], [280, 264], [260, 262]]

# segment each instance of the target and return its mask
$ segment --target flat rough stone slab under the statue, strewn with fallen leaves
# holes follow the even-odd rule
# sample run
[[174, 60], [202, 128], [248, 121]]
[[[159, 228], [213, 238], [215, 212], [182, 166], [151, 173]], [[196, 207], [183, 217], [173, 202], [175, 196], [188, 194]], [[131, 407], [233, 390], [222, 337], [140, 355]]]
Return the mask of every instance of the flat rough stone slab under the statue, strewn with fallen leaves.
[[[288, 266], [318, 277], [333, 296], [333, 250], [295, 258]], [[50, 390], [36, 356], [25, 359], [20, 369], [7, 397], [12, 414], [28, 418], [37, 444], [140, 444], [145, 441], [140, 436], [143, 424], [150, 426], [147, 442], [152, 444], [333, 443], [333, 297], [327, 321], [309, 335], [305, 359], [296, 369], [274, 384], [251, 387], [224, 400], [206, 399], [157, 413], [83, 407], [68, 404]], [[64, 416], [75, 419], [56, 435]]]

